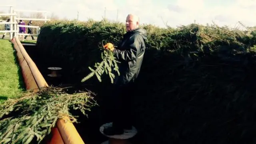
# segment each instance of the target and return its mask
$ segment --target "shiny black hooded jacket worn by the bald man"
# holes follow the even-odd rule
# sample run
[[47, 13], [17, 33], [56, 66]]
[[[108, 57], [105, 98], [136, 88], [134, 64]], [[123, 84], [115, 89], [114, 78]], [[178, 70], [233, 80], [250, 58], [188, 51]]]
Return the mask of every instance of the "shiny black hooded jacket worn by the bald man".
[[113, 51], [119, 64], [120, 76], [116, 75], [114, 84], [123, 85], [134, 82], [140, 72], [145, 53], [147, 32], [136, 28], [124, 34], [122, 42]]

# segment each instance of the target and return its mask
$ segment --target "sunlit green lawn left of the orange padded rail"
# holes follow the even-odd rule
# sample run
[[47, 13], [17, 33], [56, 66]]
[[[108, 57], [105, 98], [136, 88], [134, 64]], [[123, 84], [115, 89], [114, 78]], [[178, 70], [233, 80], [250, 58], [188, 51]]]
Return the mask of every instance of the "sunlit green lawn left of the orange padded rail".
[[24, 82], [12, 43], [0, 39], [0, 103], [20, 96]]

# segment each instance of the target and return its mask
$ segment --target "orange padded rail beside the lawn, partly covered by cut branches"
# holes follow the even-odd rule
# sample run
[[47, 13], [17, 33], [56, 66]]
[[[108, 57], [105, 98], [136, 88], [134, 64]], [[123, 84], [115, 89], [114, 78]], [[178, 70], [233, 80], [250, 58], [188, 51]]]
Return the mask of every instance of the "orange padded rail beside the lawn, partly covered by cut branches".
[[[40, 91], [40, 88], [48, 87], [44, 77], [22, 46], [20, 40], [14, 36], [11, 42], [14, 44], [14, 48], [17, 51], [16, 55], [22, 69], [22, 76], [24, 78], [26, 89], [38, 92]], [[82, 138], [71, 122], [65, 123], [64, 120], [59, 119], [56, 125], [57, 128], [52, 128], [52, 139], [50, 144], [84, 144]]]

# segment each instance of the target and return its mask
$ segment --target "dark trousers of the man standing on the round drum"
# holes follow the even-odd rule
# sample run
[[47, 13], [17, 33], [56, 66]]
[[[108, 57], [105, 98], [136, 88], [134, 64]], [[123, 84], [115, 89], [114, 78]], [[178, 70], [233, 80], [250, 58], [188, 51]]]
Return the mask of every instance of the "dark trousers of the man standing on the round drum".
[[113, 90], [113, 126], [126, 129], [132, 126], [132, 100], [135, 94], [133, 82], [123, 86], [114, 86]]

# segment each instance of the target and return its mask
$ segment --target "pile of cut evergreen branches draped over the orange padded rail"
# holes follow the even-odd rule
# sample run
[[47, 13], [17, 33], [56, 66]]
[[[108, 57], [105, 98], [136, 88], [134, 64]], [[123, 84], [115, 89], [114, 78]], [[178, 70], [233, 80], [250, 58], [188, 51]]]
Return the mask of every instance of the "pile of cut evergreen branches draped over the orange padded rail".
[[50, 87], [7, 100], [0, 106], [0, 143], [29, 144], [34, 140], [40, 143], [58, 118], [68, 117], [70, 122], [77, 122], [76, 116], [68, 111], [70, 107], [86, 115], [86, 110], [96, 105], [90, 94], [67, 94]]

